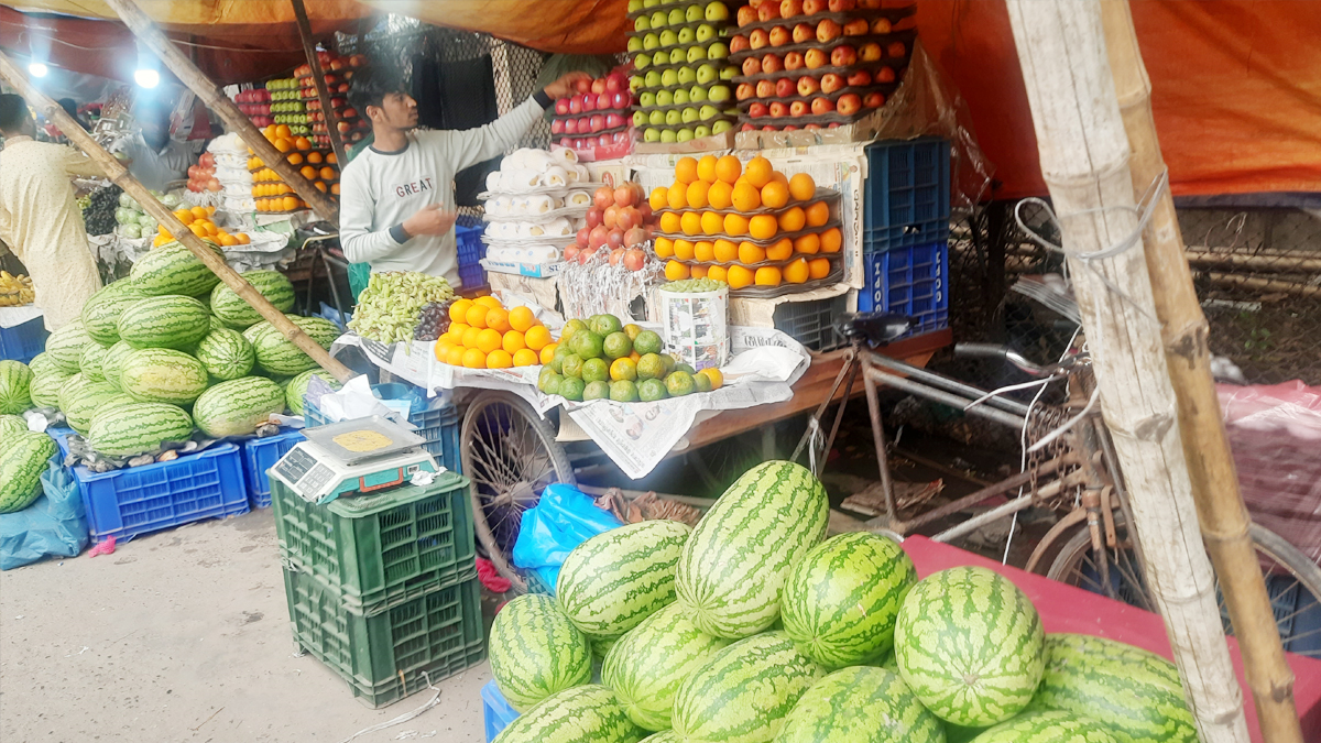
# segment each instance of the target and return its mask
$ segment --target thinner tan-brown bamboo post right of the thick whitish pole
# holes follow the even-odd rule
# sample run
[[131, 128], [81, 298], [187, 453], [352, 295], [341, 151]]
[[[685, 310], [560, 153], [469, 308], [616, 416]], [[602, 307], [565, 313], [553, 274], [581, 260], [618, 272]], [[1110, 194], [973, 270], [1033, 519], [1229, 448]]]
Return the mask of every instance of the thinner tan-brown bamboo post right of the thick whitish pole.
[[[1137, 49], [1137, 33], [1128, 0], [1102, 3], [1102, 22], [1115, 93], [1132, 148], [1132, 184], [1141, 193], [1165, 172], [1156, 120], [1151, 107], [1151, 81]], [[1243, 669], [1262, 738], [1267, 743], [1303, 743], [1293, 705], [1293, 672], [1284, 660], [1280, 632], [1262, 566], [1248, 534], [1250, 517], [1239, 493], [1234, 456], [1225, 436], [1221, 403], [1211, 377], [1210, 327], [1197, 301], [1193, 276], [1184, 254], [1184, 235], [1169, 190], [1160, 194], [1145, 235], [1156, 317], [1169, 361], [1170, 382], [1178, 401], [1178, 424], [1188, 460], [1188, 476], [1197, 504], [1202, 539], [1219, 576], [1225, 606], [1243, 652]]]

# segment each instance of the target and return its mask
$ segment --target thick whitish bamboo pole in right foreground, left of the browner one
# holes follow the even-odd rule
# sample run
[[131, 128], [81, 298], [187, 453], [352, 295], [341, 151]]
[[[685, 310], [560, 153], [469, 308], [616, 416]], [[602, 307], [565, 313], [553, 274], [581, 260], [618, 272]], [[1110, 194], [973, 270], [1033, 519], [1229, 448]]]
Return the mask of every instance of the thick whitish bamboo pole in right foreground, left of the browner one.
[[1246, 742], [1243, 697], [1198, 531], [1147, 263], [1140, 247], [1081, 258], [1122, 243], [1139, 226], [1100, 5], [1007, 0], [1007, 7], [1102, 411], [1132, 493], [1148, 586], [1202, 743]]

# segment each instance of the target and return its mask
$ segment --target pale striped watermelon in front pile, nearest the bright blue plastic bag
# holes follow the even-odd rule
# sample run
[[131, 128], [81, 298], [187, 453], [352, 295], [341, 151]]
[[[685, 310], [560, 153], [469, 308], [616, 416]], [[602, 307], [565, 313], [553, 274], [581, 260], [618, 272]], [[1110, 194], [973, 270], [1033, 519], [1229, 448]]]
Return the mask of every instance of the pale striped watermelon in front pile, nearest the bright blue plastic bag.
[[588, 635], [633, 629], [674, 602], [674, 563], [690, 533], [678, 521], [642, 521], [583, 542], [560, 566], [560, 608]]

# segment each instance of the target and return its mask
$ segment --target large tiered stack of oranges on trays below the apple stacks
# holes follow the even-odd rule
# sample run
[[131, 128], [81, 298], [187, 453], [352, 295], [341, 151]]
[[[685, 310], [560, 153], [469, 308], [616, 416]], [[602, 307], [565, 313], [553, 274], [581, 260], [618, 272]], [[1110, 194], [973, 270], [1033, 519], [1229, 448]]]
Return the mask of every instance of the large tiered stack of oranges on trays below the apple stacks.
[[[659, 258], [670, 259], [666, 279], [709, 278], [732, 290], [824, 279], [831, 272], [824, 254], [843, 247], [839, 227], [787, 237], [830, 223], [830, 204], [812, 201], [815, 196], [811, 176], [787, 177], [761, 156], [746, 167], [733, 155], [682, 157], [670, 188], [657, 188], [649, 198], [660, 213], [662, 235], [654, 245]], [[775, 212], [753, 214], [760, 209]], [[786, 237], [775, 241], [779, 234]], [[781, 266], [754, 266], [766, 260]]]

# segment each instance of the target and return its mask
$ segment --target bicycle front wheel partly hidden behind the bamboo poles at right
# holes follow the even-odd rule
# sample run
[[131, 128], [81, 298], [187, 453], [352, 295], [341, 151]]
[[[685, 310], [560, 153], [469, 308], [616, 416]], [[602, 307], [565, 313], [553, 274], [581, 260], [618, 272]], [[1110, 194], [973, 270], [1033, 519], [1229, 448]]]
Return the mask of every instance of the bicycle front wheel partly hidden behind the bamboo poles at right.
[[[1123, 513], [1115, 513], [1118, 549], [1107, 549], [1110, 586], [1100, 580], [1100, 566], [1091, 549], [1091, 534], [1086, 526], [1074, 534], [1059, 550], [1046, 578], [1070, 586], [1108, 595], [1129, 606], [1156, 611], [1147, 579], [1143, 574], [1132, 545], [1128, 543], [1128, 529]], [[1321, 567], [1308, 559], [1297, 547], [1284, 541], [1269, 529], [1252, 524], [1252, 546], [1266, 576], [1267, 594], [1275, 612], [1275, 624], [1280, 631], [1284, 649], [1314, 658], [1321, 658]], [[1232, 635], [1229, 611], [1219, 584], [1215, 600], [1221, 608], [1221, 623], [1226, 635]]]

